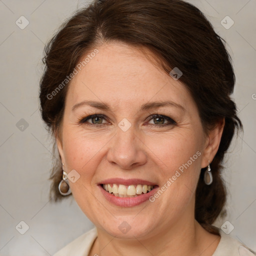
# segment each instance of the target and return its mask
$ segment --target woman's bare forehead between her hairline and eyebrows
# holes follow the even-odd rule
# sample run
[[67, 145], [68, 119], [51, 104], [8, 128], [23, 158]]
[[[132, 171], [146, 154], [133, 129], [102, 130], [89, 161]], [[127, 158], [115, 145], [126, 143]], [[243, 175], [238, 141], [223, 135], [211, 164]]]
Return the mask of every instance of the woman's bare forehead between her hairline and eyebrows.
[[155, 56], [149, 50], [141, 52], [139, 48], [119, 42], [97, 49], [98, 53], [72, 78], [67, 102], [100, 99], [113, 106], [120, 102], [128, 106], [151, 99], [173, 100], [179, 104], [191, 100], [181, 82], [154, 64]]

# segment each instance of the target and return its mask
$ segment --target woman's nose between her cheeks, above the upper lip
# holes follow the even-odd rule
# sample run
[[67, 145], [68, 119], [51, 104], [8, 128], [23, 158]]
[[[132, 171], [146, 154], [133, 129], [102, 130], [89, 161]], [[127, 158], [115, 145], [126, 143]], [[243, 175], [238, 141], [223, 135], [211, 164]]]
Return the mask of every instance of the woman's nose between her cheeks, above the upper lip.
[[107, 160], [111, 164], [118, 165], [121, 169], [131, 169], [146, 162], [145, 145], [139, 135], [134, 133], [131, 126], [123, 131], [117, 127], [117, 133], [111, 139], [110, 148], [107, 152]]

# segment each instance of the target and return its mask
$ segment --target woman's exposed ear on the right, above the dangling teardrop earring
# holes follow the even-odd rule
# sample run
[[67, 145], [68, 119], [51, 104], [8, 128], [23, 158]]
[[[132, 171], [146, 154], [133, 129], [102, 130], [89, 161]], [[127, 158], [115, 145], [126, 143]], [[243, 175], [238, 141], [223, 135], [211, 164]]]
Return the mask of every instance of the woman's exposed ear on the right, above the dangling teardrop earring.
[[225, 119], [221, 118], [214, 128], [208, 132], [202, 154], [201, 168], [206, 167], [209, 164], [208, 160], [211, 162], [214, 158], [219, 147], [224, 125]]

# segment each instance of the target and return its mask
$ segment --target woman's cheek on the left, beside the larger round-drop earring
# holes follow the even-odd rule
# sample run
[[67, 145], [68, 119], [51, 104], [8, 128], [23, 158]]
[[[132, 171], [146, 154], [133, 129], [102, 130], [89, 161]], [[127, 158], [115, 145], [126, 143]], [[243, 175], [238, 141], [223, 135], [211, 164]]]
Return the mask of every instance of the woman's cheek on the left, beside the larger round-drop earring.
[[80, 175], [75, 183], [69, 182], [72, 195], [82, 211], [93, 221], [94, 216], [90, 209], [100, 212], [101, 204], [97, 203], [91, 191], [94, 189], [92, 186], [95, 186], [95, 173], [104, 153], [103, 145], [109, 138], [84, 134], [74, 128], [63, 130], [63, 134], [67, 171], [75, 169]]

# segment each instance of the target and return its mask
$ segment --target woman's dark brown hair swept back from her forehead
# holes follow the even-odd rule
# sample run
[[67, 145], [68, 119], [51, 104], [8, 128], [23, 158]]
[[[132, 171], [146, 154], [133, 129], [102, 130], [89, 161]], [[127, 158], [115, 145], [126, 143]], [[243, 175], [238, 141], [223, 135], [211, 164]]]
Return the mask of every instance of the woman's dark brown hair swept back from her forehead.
[[[221, 212], [226, 189], [221, 162], [236, 128], [242, 124], [230, 98], [234, 73], [223, 40], [195, 6], [181, 0], [95, 0], [67, 20], [45, 47], [45, 70], [40, 80], [41, 116], [54, 134], [63, 115], [67, 85], [49, 95], [69, 75], [78, 60], [100, 44], [121, 41], [150, 50], [167, 73], [178, 67], [180, 81], [197, 104], [205, 132], [225, 119], [218, 151], [211, 162], [213, 182], [205, 185], [201, 171], [195, 194], [195, 219], [210, 232]], [[62, 198], [57, 162], [51, 172], [51, 195]], [[216, 233], [216, 232], [215, 232]]]

